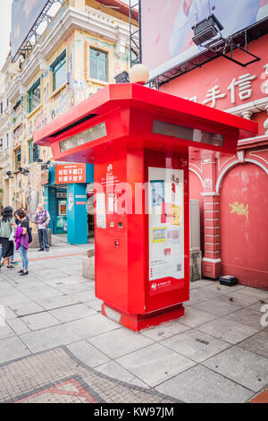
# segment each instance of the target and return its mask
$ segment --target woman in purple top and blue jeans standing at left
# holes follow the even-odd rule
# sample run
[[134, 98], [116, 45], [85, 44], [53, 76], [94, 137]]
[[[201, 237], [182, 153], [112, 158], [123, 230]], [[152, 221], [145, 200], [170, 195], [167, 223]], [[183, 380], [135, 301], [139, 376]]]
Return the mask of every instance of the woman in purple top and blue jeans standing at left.
[[29, 259], [27, 255], [29, 247], [29, 219], [26, 218], [26, 211], [24, 211], [24, 209], [16, 211], [16, 216], [18, 225], [16, 226], [14, 239], [16, 243], [16, 250], [19, 250], [22, 262], [21, 271], [18, 273], [20, 273], [20, 276], [25, 276], [29, 274]]

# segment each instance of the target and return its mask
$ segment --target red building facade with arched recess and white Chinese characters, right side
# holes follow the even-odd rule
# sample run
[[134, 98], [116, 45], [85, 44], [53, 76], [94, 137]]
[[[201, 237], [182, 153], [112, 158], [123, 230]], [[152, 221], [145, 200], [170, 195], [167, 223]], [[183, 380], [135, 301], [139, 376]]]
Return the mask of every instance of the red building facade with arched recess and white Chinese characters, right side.
[[242, 67], [220, 57], [160, 89], [258, 122], [235, 155], [190, 159], [190, 198], [200, 201], [203, 276], [268, 289], [268, 35], [248, 50], [260, 60]]

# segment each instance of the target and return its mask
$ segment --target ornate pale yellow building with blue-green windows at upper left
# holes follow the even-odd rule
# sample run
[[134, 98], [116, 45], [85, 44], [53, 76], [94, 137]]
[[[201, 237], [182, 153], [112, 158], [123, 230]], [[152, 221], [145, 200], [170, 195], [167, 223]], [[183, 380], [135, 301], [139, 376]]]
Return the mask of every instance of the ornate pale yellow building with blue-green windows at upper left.
[[128, 8], [121, 9], [101, 0], [66, 1], [35, 47], [17, 60], [6, 91], [12, 168], [4, 168], [2, 176], [9, 169], [13, 178], [5, 204], [30, 211], [43, 201], [41, 167], [52, 155], [33, 144], [32, 134], [129, 70]]

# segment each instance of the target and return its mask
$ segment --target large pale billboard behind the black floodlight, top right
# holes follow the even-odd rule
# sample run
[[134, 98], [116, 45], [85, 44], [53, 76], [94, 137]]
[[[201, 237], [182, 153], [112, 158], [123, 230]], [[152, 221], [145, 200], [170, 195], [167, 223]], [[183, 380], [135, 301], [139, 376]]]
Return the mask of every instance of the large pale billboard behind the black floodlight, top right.
[[191, 27], [214, 13], [224, 38], [268, 16], [268, 0], [141, 0], [142, 62], [150, 79], [197, 56]]

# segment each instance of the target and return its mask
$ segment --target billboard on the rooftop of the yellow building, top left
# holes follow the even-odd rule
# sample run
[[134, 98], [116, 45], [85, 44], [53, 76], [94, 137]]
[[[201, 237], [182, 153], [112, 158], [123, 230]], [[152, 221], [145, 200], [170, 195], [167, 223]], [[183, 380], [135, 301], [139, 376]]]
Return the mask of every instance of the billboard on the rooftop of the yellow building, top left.
[[13, 0], [12, 6], [12, 58], [16, 56], [48, 0]]

